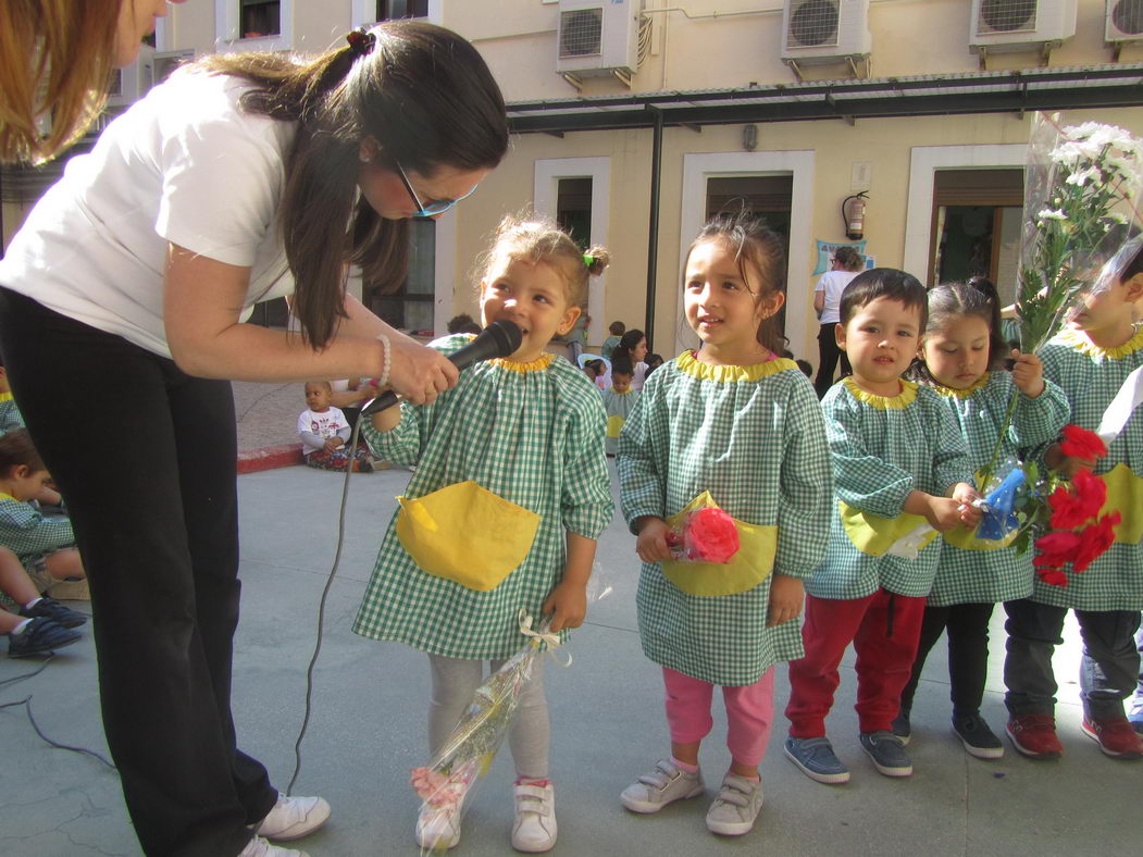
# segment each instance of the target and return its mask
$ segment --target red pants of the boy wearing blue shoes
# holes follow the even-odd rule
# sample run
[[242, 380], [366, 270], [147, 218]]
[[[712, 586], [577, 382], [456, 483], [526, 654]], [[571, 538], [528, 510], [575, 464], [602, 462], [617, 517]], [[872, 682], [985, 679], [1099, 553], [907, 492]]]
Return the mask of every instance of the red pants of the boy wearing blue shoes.
[[790, 735], [825, 735], [825, 716], [840, 683], [838, 664], [850, 642], [857, 652], [854, 707], [861, 731], [888, 730], [917, 657], [924, 616], [925, 598], [885, 590], [852, 601], [806, 595], [806, 657], [790, 662]]

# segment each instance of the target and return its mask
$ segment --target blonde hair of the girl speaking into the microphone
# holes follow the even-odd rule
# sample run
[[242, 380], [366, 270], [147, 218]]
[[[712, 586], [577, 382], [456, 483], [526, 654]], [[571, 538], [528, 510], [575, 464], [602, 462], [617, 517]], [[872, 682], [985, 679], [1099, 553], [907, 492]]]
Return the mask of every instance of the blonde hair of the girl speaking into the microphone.
[[[507, 215], [496, 227], [491, 249], [478, 263], [485, 279], [493, 264], [507, 256], [530, 264], [544, 263], [563, 283], [568, 306], [582, 306], [588, 299], [588, 277], [599, 277], [612, 261], [604, 247], [580, 249], [567, 232], [545, 217]], [[589, 262], [590, 259], [590, 262]]]

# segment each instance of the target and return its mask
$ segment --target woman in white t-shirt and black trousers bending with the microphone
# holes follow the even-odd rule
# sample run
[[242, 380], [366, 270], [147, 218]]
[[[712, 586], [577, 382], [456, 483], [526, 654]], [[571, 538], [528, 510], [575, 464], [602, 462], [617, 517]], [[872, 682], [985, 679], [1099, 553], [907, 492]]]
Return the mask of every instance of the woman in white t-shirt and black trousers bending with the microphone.
[[[281, 855], [266, 839], [329, 814], [235, 747], [229, 381], [363, 376], [422, 403], [457, 378], [345, 293], [346, 266], [401, 283], [407, 218], [501, 161], [504, 102], [441, 27], [347, 42], [176, 72], [71, 160], [0, 261], [5, 363], [88, 569], [104, 729], [146, 854]], [[246, 323], [279, 295], [301, 334]]]

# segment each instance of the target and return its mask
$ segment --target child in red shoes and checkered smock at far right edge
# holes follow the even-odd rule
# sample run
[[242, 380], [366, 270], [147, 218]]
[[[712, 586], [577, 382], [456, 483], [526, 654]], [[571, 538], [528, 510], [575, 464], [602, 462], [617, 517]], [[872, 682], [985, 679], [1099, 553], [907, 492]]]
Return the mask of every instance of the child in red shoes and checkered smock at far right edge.
[[[1143, 329], [1133, 307], [1143, 296], [1143, 242], [1132, 241], [1094, 287], [1064, 330], [1044, 347], [1044, 374], [1071, 405], [1071, 422], [1095, 431], [1127, 376], [1143, 366]], [[1108, 455], [1096, 462], [1063, 456], [1058, 444], [1045, 459], [1065, 473], [1089, 468], [1108, 486], [1101, 515], [1118, 511], [1114, 543], [1068, 586], [1037, 580], [1031, 598], [1009, 601], [1005, 702], [1008, 736], [1024, 755], [1055, 758], [1063, 747], [1055, 731], [1056, 681], [1052, 654], [1062, 642], [1068, 610], [1076, 611], [1084, 638], [1080, 696], [1084, 731], [1117, 759], [1143, 758], [1143, 740], [1124, 716], [1135, 690], [1140, 654], [1133, 635], [1143, 608], [1143, 417], [1135, 411]]]

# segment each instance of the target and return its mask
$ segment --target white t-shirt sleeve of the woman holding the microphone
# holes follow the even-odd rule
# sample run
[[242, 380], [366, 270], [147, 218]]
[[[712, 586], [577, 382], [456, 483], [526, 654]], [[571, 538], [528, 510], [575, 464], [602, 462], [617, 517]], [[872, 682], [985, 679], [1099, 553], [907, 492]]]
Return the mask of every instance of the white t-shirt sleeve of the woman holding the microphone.
[[179, 89], [201, 95], [162, 122], [155, 232], [193, 253], [249, 267], [281, 197], [285, 169], [274, 120], [239, 112], [222, 89]]

